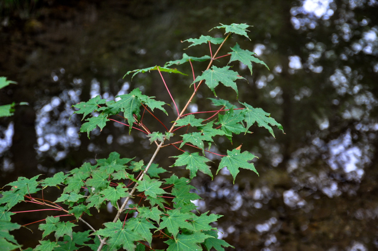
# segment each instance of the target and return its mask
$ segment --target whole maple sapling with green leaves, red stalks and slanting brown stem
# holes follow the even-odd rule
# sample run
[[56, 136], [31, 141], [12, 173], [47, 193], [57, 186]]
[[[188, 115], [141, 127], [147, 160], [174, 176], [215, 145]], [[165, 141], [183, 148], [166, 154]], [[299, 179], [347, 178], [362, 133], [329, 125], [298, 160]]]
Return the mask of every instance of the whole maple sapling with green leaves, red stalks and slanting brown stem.
[[[30, 179], [19, 177], [17, 181], [8, 183], [5, 187], [10, 189], [0, 192], [0, 237], [3, 238], [0, 238], [0, 243], [5, 250], [20, 247], [9, 234], [9, 231], [20, 228], [20, 225], [11, 222], [11, 215], [14, 214], [11, 210], [18, 203], [37, 204], [54, 212], [47, 215], [44, 223], [40, 223], [39, 229], [43, 231], [42, 240], [33, 250], [70, 251], [87, 246], [92, 250], [104, 248], [113, 251], [123, 248], [127, 251], [142, 251], [146, 248], [152, 249], [154, 238], [163, 239], [168, 251], [209, 251], [212, 248], [223, 251], [224, 247], [232, 247], [217, 238], [217, 229], [211, 225], [222, 215], [200, 213], [196, 210], [193, 201], [201, 198], [194, 192], [195, 187], [190, 181], [198, 175], [198, 171], [213, 179], [224, 167], [229, 170], [233, 182], [240, 168], [258, 174], [252, 162], [256, 156], [249, 151], [242, 151], [240, 147], [227, 150], [220, 155], [220, 161], [214, 163], [217, 169], [212, 170], [212, 161], [207, 154], [215, 154], [210, 151], [215, 137], [225, 137], [232, 143], [234, 135], [250, 135], [251, 127], [255, 124], [267, 129], [273, 137], [274, 126], [283, 132], [282, 126], [261, 108], [254, 108], [241, 101], [232, 104], [227, 99], [217, 97], [215, 93], [215, 88], [223, 84], [231, 87], [236, 93], [236, 98], [238, 97], [240, 83], [237, 81], [241, 80], [243, 83], [245, 78], [237, 71], [231, 70], [229, 65], [216, 66], [214, 63], [218, 58], [218, 51], [229, 36], [238, 34], [249, 38], [246, 30], [248, 27], [246, 24], [221, 24], [214, 28], [224, 28], [227, 34], [225, 38], [200, 36], [198, 39], [183, 41], [191, 43], [188, 48], [204, 43], [208, 43], [209, 46], [216, 45], [218, 50], [214, 55], [211, 51], [210, 55], [200, 57], [183, 53], [181, 59], [169, 61], [163, 67], [156, 65], [128, 71], [125, 74], [132, 74], [133, 78], [138, 73], [158, 71], [164, 82], [161, 72], [186, 75], [183, 73], [184, 70], [169, 68], [172, 65], [192, 65], [192, 62], [209, 61], [206, 70], [193, 77], [194, 81], [188, 82], [188, 87], [193, 88], [193, 94], [181, 112], [166, 86], [177, 110], [177, 114], [173, 115], [177, 115], [177, 118], [172, 120], [170, 125], [164, 125], [154, 115], [155, 108], [170, 115], [164, 108], [166, 103], [155, 100], [154, 96], [142, 94], [138, 88], [116, 96], [114, 100], [96, 96], [73, 105], [74, 113], [82, 115], [82, 120], [85, 119], [80, 132], [86, 132], [88, 138], [96, 127], [102, 130], [107, 122], [114, 121], [128, 126], [129, 134], [133, 128], [144, 132], [150, 143], [156, 144], [155, 153], [148, 160], [148, 164], [145, 164], [144, 160], [121, 158], [118, 153], [112, 152], [108, 158], [96, 160], [95, 164], [84, 163], [67, 173], [59, 172], [50, 178], [40, 178], [40, 175]], [[253, 52], [241, 49], [237, 43], [230, 47], [230, 50], [224, 55], [230, 57], [229, 63], [239, 61], [249, 68], [251, 74], [252, 63], [266, 66]], [[194, 76], [194, 70], [192, 73]], [[215, 98], [209, 100], [217, 110], [184, 114], [202, 83], [214, 93]], [[143, 119], [145, 114], [150, 114], [151, 118]], [[198, 114], [210, 115], [208, 118], [200, 118]], [[163, 124], [165, 130], [151, 132], [148, 128], [153, 121]], [[208, 147], [205, 148], [205, 145]], [[174, 173], [169, 176], [166, 169], [153, 163], [162, 147], [172, 147], [178, 153], [170, 156], [175, 158], [171, 166], [174, 168], [170, 171], [174, 172], [176, 168], [184, 167], [188, 170], [188, 178], [178, 177]], [[168, 178], [161, 178], [160, 175], [163, 173], [164, 177]], [[57, 196], [54, 201], [44, 199], [43, 192], [46, 189], [55, 189]], [[114, 220], [103, 223], [101, 229], [93, 228], [85, 219], [91, 217], [95, 210], [104, 211], [105, 207], [115, 209]], [[24, 212], [29, 211], [17, 213]], [[135, 217], [130, 217], [131, 213]], [[66, 220], [64, 216], [71, 218]], [[87, 226], [88, 230], [75, 231], [79, 224]]]

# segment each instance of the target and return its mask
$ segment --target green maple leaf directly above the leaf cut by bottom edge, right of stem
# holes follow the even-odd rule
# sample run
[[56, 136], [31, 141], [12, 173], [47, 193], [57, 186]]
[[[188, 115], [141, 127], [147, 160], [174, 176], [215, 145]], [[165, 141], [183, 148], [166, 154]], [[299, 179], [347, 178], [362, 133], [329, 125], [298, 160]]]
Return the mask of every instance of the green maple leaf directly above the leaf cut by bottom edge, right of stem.
[[[188, 213], [181, 213], [179, 209], [172, 209], [167, 211], [168, 216], [161, 218], [161, 223], [156, 231], [167, 228], [167, 230], [173, 235], [176, 240], [179, 228], [186, 228], [188, 230], [194, 230], [193, 226], [187, 222], [191, 220], [192, 215]], [[155, 231], [155, 232], [156, 232]]]

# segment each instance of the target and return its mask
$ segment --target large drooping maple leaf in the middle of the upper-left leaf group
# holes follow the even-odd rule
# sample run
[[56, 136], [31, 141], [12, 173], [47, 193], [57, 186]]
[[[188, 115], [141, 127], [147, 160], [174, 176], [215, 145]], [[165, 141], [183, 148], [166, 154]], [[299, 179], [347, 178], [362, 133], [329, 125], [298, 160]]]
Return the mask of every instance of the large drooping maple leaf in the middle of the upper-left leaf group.
[[139, 119], [140, 115], [140, 106], [141, 100], [131, 93], [116, 96], [116, 98], [121, 98], [120, 100], [114, 102], [107, 102], [107, 109], [104, 111], [105, 114], [112, 114], [116, 115], [119, 112], [124, 113], [124, 118], [127, 119], [127, 123], [129, 124], [129, 134], [131, 132], [131, 127], [135, 122], [134, 114], [136, 115], [137, 119]]

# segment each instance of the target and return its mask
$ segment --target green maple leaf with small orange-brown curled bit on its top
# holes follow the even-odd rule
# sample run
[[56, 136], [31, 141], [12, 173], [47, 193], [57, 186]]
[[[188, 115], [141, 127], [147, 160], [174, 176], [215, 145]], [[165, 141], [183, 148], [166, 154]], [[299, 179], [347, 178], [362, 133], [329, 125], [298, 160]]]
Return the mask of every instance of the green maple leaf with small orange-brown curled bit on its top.
[[217, 174], [220, 169], [222, 169], [223, 167], [227, 167], [230, 174], [232, 175], [232, 178], [234, 178], [233, 183], [235, 183], [235, 177], [239, 173], [240, 167], [252, 170], [257, 175], [259, 175], [259, 173], [255, 169], [254, 164], [248, 163], [248, 161], [253, 160], [253, 158], [257, 157], [247, 151], [240, 153], [240, 149], [233, 149], [232, 151], [227, 150], [227, 156], [222, 157], [222, 159], [220, 160]]

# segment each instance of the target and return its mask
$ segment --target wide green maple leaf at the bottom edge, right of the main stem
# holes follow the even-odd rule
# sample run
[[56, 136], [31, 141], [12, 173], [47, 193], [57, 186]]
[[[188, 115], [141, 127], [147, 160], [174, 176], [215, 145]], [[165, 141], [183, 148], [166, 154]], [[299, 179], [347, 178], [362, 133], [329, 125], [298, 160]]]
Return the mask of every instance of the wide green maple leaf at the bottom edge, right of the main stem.
[[182, 232], [177, 236], [177, 239], [170, 239], [165, 241], [169, 246], [167, 251], [198, 251], [202, 250], [199, 243], [203, 243], [205, 239], [212, 236], [206, 235], [203, 232]]

